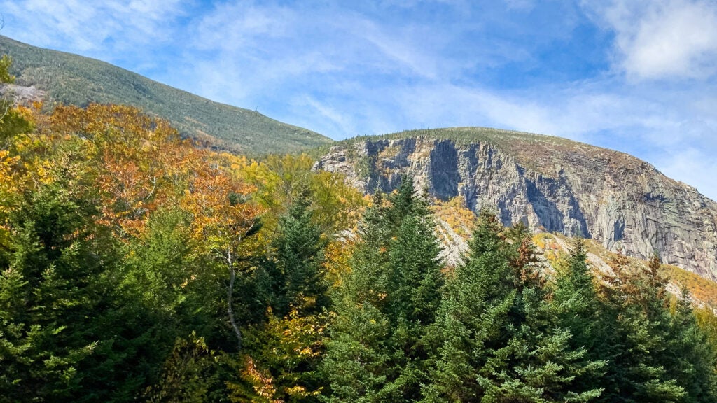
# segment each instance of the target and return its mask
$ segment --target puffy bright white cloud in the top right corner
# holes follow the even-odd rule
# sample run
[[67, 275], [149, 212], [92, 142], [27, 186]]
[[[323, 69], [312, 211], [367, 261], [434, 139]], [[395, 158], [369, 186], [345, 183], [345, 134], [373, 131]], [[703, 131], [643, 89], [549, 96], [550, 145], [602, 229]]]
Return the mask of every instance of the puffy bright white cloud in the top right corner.
[[717, 72], [717, 3], [614, 0], [587, 4], [616, 34], [617, 63], [636, 80], [698, 78]]

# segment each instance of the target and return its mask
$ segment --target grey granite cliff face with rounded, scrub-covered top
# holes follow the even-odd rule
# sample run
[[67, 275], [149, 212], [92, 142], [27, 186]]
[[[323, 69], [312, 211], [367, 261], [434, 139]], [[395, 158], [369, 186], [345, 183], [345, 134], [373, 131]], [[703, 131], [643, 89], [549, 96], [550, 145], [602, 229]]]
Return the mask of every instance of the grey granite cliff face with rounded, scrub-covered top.
[[[607, 250], [717, 280], [717, 203], [625, 153], [482, 128], [413, 131], [339, 143], [317, 162], [366, 193], [414, 176], [437, 199], [464, 196], [503, 223], [580, 235]], [[440, 136], [444, 136], [441, 138]]]

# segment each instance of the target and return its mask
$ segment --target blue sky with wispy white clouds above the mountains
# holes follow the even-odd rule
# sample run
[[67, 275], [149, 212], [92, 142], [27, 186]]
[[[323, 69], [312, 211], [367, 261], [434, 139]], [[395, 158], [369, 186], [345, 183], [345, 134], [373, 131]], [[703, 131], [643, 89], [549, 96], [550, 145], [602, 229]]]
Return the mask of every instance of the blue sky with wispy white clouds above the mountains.
[[0, 0], [4, 34], [336, 140], [488, 126], [717, 200], [717, 0]]

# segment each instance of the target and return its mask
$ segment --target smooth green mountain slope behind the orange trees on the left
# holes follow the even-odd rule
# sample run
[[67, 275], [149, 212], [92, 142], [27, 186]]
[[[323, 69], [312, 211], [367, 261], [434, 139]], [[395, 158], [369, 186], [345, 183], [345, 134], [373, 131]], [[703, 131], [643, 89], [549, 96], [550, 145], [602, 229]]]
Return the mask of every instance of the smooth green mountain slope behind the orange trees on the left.
[[33, 47], [0, 36], [16, 84], [47, 93], [46, 103], [134, 105], [171, 122], [184, 135], [239, 153], [287, 153], [331, 143], [318, 133], [254, 110], [216, 103], [99, 60]]

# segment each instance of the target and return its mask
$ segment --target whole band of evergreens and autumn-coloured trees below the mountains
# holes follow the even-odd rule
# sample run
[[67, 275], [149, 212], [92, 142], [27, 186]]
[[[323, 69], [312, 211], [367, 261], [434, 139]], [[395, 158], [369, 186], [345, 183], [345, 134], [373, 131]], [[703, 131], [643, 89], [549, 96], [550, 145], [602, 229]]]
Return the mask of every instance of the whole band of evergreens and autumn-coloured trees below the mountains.
[[717, 399], [717, 319], [657, 257], [595, 278], [576, 240], [546, 273], [483, 212], [443, 267], [410, 179], [366, 200], [128, 107], [6, 116], [0, 402]]

